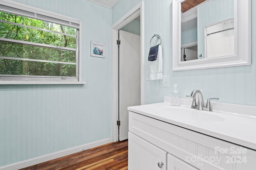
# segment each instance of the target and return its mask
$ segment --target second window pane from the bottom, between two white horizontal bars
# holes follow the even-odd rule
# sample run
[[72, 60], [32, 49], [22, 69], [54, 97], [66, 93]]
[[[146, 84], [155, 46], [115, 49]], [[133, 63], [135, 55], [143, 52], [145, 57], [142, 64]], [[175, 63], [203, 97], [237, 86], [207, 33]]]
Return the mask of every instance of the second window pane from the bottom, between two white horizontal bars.
[[76, 51], [0, 41], [0, 56], [76, 63]]

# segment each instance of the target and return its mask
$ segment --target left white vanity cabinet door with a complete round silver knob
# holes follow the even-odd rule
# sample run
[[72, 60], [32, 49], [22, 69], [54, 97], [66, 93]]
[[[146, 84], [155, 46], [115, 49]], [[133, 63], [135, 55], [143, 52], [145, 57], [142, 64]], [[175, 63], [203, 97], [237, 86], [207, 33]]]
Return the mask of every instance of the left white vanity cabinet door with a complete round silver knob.
[[128, 170], [166, 170], [166, 158], [166, 151], [128, 133]]

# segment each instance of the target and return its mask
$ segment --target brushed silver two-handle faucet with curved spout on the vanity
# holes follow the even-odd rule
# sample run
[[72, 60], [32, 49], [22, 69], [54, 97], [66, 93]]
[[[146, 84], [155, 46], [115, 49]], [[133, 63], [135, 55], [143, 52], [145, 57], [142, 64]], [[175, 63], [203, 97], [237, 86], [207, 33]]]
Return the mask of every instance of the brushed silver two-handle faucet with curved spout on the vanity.
[[[198, 102], [196, 103], [196, 95], [198, 94]], [[207, 99], [206, 106], [204, 105], [204, 98], [200, 90], [195, 89], [192, 91], [190, 96], [187, 96], [190, 98], [193, 98], [191, 108], [192, 109], [198, 109], [198, 110], [206, 110], [206, 111], [212, 111], [212, 105], [210, 103], [211, 100], [219, 100], [219, 98], [209, 98]]]

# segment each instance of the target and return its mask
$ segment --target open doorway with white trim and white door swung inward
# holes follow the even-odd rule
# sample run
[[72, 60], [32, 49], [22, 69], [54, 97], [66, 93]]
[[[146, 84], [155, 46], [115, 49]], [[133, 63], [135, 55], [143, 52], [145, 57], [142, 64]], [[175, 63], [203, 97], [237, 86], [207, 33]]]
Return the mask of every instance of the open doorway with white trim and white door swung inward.
[[[142, 3], [140, 2], [112, 25], [113, 141], [128, 138], [127, 107], [144, 104]], [[135, 26], [138, 24], [140, 27]], [[137, 40], [132, 42], [134, 39]], [[134, 52], [134, 47], [139, 47], [137, 52]], [[138, 56], [132, 59], [130, 56], [135, 56], [134, 53]], [[129, 74], [131, 70], [134, 73]], [[119, 114], [121, 111], [123, 113], [125, 111], [123, 116]]]

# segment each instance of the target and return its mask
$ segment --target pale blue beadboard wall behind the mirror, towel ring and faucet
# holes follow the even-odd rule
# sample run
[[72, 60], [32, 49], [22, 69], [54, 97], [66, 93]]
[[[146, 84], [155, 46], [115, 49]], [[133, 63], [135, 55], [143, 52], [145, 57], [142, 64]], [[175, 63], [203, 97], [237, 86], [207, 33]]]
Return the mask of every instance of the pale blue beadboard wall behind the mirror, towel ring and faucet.
[[[120, 0], [112, 10], [112, 21], [121, 18], [132, 7], [129, 1]], [[252, 0], [254, 8], [256, 1]], [[252, 65], [173, 72], [172, 0], [144, 0], [144, 76], [148, 70], [149, 42], [154, 33], [162, 35], [163, 75], [170, 75], [170, 88], [160, 88], [159, 80], [145, 79], [145, 103], [162, 102], [164, 96], [171, 96], [172, 84], [178, 84], [181, 98], [200, 89], [205, 99], [219, 97], [219, 102], [256, 106], [255, 24], [256, 11], [252, 10]]]

